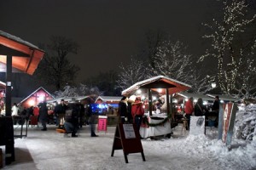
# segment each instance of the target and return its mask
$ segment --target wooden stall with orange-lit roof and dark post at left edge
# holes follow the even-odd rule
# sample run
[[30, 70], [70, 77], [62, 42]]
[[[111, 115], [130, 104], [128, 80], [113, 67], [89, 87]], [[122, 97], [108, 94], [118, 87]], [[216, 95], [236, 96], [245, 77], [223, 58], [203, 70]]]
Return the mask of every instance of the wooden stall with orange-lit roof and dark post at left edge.
[[14, 128], [11, 117], [12, 72], [32, 75], [44, 51], [20, 37], [0, 30], [0, 71], [6, 72], [5, 116], [0, 117], [0, 145], [5, 145], [5, 163], [15, 161]]

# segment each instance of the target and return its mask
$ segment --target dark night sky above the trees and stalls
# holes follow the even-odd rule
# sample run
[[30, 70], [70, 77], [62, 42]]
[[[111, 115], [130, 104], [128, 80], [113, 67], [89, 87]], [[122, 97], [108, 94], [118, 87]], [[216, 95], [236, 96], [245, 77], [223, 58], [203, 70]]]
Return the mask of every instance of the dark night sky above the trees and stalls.
[[201, 22], [218, 13], [215, 0], [2, 0], [0, 30], [27, 42], [65, 36], [79, 43], [74, 64], [78, 82], [127, 62], [142, 47], [149, 29], [167, 31], [173, 40], [201, 54]]

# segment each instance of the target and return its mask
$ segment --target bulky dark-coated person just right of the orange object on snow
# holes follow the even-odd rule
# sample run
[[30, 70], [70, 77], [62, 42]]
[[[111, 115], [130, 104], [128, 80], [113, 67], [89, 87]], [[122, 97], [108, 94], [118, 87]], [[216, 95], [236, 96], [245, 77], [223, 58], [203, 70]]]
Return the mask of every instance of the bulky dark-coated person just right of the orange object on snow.
[[71, 137], [78, 137], [79, 105], [72, 104], [67, 108], [64, 127], [67, 133], [72, 133]]

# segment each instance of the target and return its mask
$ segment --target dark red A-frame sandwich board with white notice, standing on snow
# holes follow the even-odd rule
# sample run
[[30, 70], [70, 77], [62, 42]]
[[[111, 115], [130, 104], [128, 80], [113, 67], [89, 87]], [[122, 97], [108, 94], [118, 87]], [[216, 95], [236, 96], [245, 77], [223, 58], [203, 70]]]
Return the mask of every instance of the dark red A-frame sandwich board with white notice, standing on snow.
[[143, 152], [143, 144], [141, 142], [141, 138], [135, 124], [119, 123], [117, 125], [113, 138], [111, 156], [113, 156], [114, 150], [121, 149], [123, 149], [126, 163], [128, 163], [128, 154], [138, 152], [141, 152], [143, 161], [146, 161]]

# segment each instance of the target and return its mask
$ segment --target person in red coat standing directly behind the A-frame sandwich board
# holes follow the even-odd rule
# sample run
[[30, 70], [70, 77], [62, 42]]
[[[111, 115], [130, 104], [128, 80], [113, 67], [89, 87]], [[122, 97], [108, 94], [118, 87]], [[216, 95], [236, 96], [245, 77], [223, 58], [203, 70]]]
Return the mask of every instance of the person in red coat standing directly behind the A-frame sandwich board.
[[140, 131], [144, 115], [143, 102], [140, 97], [137, 97], [135, 102], [131, 105], [131, 115], [137, 126], [137, 130]]

